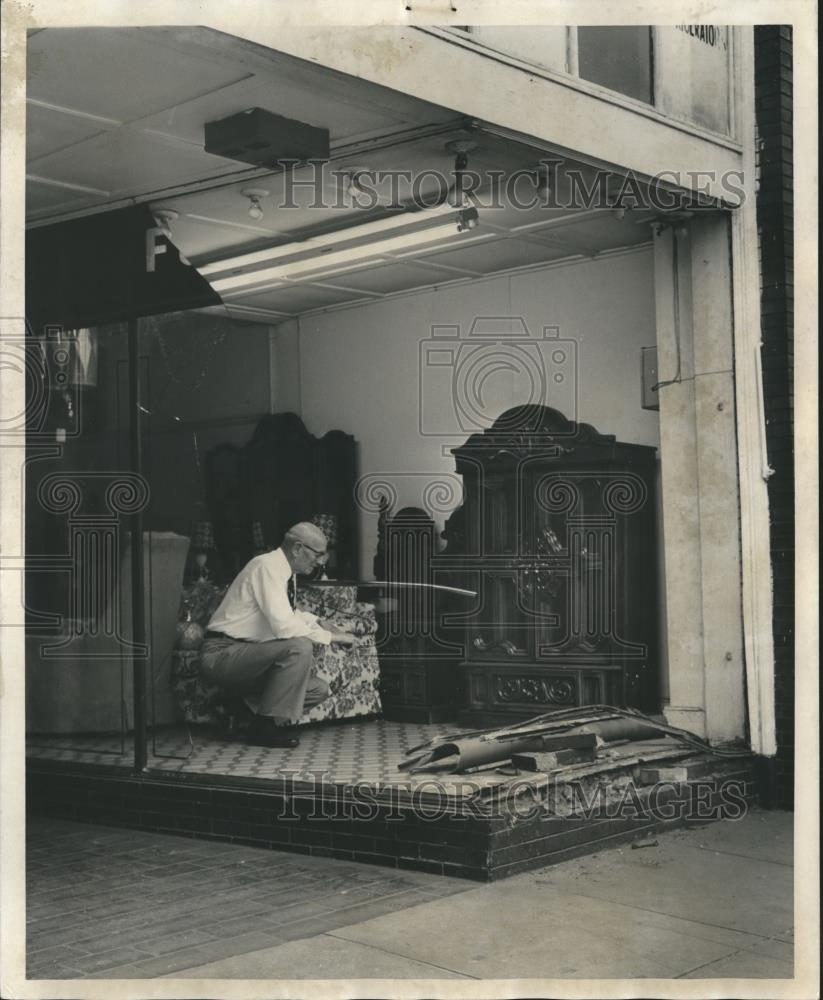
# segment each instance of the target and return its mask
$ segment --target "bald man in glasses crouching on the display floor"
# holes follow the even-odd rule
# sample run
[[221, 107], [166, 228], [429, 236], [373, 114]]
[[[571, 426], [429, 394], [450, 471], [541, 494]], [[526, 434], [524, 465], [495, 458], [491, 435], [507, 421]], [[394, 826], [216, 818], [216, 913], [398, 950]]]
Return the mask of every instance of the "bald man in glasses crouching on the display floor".
[[296, 524], [279, 549], [243, 567], [209, 622], [201, 672], [243, 697], [254, 713], [246, 741], [255, 746], [298, 745], [285, 724], [329, 695], [326, 683], [311, 676], [312, 643], [355, 641], [295, 608], [295, 574], [310, 573], [327, 558], [323, 532], [308, 522]]

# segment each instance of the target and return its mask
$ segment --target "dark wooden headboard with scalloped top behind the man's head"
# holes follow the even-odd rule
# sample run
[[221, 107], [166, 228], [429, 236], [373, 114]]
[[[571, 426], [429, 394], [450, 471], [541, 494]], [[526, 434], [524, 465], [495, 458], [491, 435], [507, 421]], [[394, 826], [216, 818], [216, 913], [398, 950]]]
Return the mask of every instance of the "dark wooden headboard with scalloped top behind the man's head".
[[310, 434], [296, 413], [262, 417], [242, 447], [224, 444], [206, 453], [206, 505], [214, 524], [219, 579], [231, 580], [256, 554], [253, 525], [267, 548], [277, 548], [298, 521], [317, 514], [337, 518], [336, 565], [329, 576], [358, 578], [355, 506], [357, 445], [351, 434]]

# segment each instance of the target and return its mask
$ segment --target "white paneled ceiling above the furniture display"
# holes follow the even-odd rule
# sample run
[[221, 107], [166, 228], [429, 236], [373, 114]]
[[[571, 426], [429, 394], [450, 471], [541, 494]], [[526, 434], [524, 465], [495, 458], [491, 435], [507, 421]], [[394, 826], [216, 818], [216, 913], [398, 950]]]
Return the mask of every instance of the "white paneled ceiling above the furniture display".
[[[417, 176], [437, 170], [449, 176], [454, 154], [446, 142], [469, 137], [476, 143], [469, 154], [475, 171], [510, 176], [546, 155], [528, 142], [473, 128], [446, 107], [207, 29], [40, 30], [30, 37], [28, 65], [30, 224], [145, 201], [178, 213], [172, 237], [195, 265], [380, 214], [379, 205], [367, 211], [341, 197], [334, 171], [364, 167]], [[329, 207], [312, 204], [309, 188], [295, 191], [298, 207], [282, 207], [284, 174], [204, 151], [206, 122], [255, 106], [329, 129], [332, 153], [323, 177]], [[312, 176], [302, 170], [294, 179]], [[249, 187], [268, 192], [259, 221], [249, 217], [250, 203], [240, 193]], [[404, 199], [411, 192], [401, 184], [399, 193]], [[236, 294], [226, 305], [238, 316], [278, 320], [590, 257], [650, 238], [648, 213], [627, 211], [618, 218], [608, 210], [523, 210], [488, 202], [488, 193], [481, 193], [477, 229], [457, 239], [455, 228], [444, 245], [413, 258], [384, 254], [342, 275], [289, 279]]]

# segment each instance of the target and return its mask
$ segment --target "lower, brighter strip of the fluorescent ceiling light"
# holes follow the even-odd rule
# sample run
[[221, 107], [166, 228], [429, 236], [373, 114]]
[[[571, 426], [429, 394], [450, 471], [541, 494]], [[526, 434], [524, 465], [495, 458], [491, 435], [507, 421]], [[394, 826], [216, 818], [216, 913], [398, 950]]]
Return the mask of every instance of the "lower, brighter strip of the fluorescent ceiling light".
[[[452, 211], [454, 211], [452, 209]], [[223, 278], [217, 278], [211, 282], [211, 287], [221, 295], [232, 292], [237, 293], [241, 289], [251, 289], [259, 285], [271, 285], [272, 282], [288, 280], [290, 278], [312, 278], [321, 275], [328, 276], [329, 272], [340, 274], [344, 271], [361, 267], [366, 261], [380, 258], [384, 254], [408, 255], [413, 249], [425, 246], [430, 243], [437, 243], [440, 240], [449, 238], [449, 244], [466, 242], [467, 236], [456, 236], [456, 228], [453, 222], [448, 222], [439, 226], [432, 226], [428, 229], [419, 230], [413, 233], [401, 233], [399, 236], [389, 236], [382, 240], [376, 240], [361, 246], [346, 247], [333, 253], [324, 253], [319, 257], [309, 257], [301, 260], [290, 261], [279, 264], [275, 267], [261, 268], [257, 271], [250, 271], [245, 274], [232, 274]], [[485, 238], [481, 235], [480, 238]], [[475, 237], [476, 238], [476, 237]], [[473, 242], [473, 240], [472, 240]]]

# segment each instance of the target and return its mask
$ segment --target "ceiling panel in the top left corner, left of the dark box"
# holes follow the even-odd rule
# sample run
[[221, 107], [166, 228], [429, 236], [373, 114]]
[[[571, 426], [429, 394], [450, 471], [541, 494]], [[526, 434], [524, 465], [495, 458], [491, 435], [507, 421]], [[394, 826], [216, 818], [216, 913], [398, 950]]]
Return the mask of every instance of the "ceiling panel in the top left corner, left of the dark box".
[[139, 28], [52, 28], [29, 41], [27, 96], [127, 122], [248, 75], [152, 44]]

